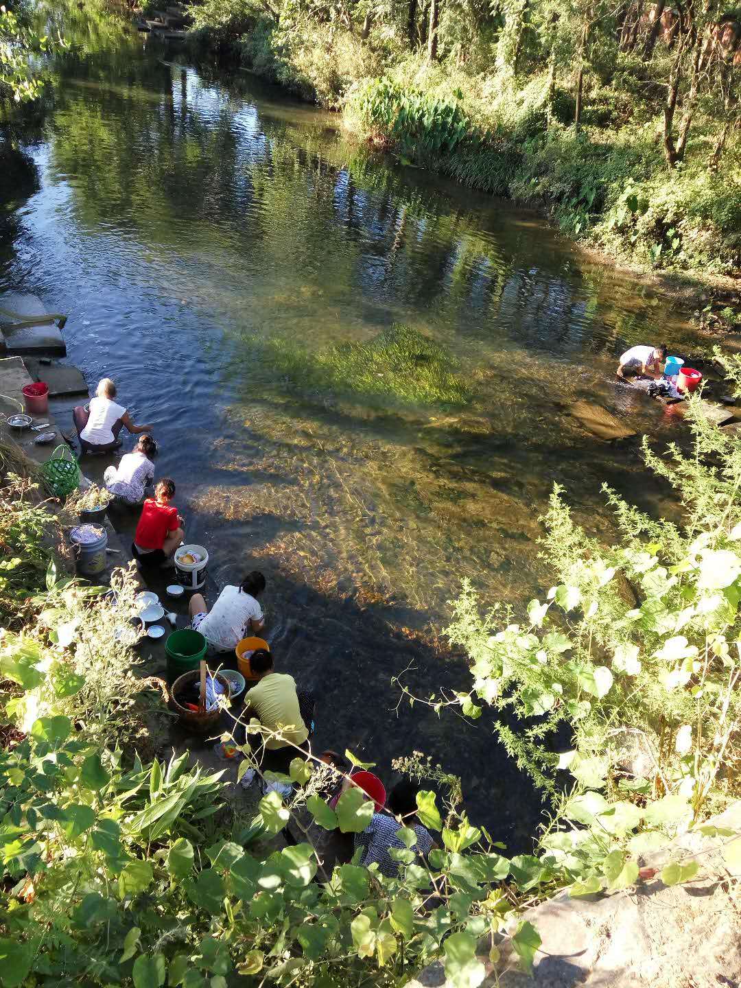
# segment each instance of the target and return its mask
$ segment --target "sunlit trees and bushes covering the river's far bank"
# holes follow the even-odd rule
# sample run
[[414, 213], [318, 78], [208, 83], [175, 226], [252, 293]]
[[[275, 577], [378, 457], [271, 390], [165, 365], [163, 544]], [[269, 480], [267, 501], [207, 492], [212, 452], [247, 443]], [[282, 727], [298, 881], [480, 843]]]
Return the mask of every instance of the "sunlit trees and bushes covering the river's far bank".
[[400, 161], [642, 266], [741, 264], [741, 21], [715, 0], [194, 0], [193, 44]]

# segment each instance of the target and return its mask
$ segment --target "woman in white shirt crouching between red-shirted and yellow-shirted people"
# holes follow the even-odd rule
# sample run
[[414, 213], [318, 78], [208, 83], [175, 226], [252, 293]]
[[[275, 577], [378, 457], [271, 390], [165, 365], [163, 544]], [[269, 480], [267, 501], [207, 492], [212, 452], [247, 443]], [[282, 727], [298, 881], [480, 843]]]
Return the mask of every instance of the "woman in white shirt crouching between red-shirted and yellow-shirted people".
[[265, 626], [263, 609], [257, 602], [263, 590], [265, 577], [255, 570], [238, 587], [224, 587], [210, 611], [203, 595], [194, 594], [189, 604], [191, 627], [216, 651], [233, 652], [242, 638], [260, 634]]

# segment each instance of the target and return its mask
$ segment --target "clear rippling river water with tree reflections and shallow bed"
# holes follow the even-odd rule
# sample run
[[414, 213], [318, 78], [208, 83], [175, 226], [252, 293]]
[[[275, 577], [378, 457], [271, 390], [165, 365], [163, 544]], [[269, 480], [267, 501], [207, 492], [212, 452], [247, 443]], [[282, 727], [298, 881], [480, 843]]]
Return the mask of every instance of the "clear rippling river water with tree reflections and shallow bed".
[[245, 73], [163, 57], [134, 41], [67, 60], [27, 148], [36, 180], [6, 209], [0, 285], [68, 311], [70, 362], [153, 424], [215, 584], [266, 574], [277, 663], [316, 690], [319, 745], [386, 778], [394, 755], [430, 754], [522, 849], [539, 797], [491, 721], [397, 708], [391, 677], [466, 688], [448, 602], [462, 577], [487, 603], [542, 595], [554, 482], [592, 534], [611, 530], [603, 481], [662, 508], [635, 444], [567, 409], [671, 435], [617, 386], [615, 355], [686, 340], [683, 315], [533, 212], [372, 160]]

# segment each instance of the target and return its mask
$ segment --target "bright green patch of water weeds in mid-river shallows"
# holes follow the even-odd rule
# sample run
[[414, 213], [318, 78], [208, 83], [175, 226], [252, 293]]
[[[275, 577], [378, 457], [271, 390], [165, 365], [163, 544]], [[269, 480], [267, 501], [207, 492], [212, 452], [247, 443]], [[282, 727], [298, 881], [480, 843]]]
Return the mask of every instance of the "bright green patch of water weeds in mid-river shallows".
[[470, 400], [455, 371], [458, 362], [410, 326], [395, 323], [367, 342], [351, 340], [315, 353], [283, 337], [268, 346], [274, 366], [302, 390], [449, 408]]

